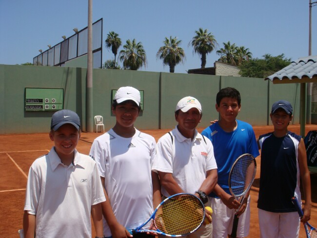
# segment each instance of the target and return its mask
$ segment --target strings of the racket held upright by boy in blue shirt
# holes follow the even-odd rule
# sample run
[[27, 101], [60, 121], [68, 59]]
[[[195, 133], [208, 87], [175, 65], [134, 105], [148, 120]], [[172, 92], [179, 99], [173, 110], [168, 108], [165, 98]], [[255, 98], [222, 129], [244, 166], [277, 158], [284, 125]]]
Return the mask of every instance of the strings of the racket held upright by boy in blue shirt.
[[230, 189], [236, 197], [243, 196], [252, 185], [257, 165], [250, 155], [238, 159], [230, 172]]

